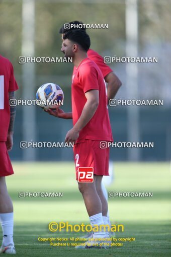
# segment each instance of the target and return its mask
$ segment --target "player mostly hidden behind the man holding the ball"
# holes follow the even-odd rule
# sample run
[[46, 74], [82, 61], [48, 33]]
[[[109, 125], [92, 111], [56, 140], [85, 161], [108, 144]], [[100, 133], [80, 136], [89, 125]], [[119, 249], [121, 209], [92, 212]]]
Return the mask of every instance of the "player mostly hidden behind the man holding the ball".
[[[75, 27], [78, 27], [77, 25], [83, 24], [83, 23], [80, 22], [80, 21], [72, 21], [72, 22], [69, 22], [69, 24], [70, 25], [71, 24], [76, 25]], [[65, 27], [63, 25], [59, 30], [59, 33], [62, 34], [62, 40], [63, 40], [63, 35], [66, 32], [68, 32], [70, 30], [73, 30], [73, 29], [74, 29], [74, 26], [72, 28], [65, 29]], [[84, 31], [86, 30], [85, 28], [81, 28], [81, 29], [84, 30]], [[100, 68], [100, 70], [103, 74], [105, 82], [108, 83], [108, 85], [107, 85], [107, 97], [108, 97], [108, 104], [109, 104], [110, 99], [113, 99], [115, 97], [115, 95], [118, 92], [122, 83], [119, 80], [119, 78], [115, 75], [113, 70], [106, 63], [104, 63], [104, 59], [99, 53], [97, 53], [96, 51], [94, 51], [92, 49], [89, 49], [87, 54], [88, 54], [88, 58], [90, 58], [91, 60], [96, 62], [96, 64], [99, 66], [99, 68]], [[75, 72], [76, 72], [76, 67], [74, 66], [73, 74], [72, 74], [72, 80], [73, 80], [73, 77], [75, 75]], [[112, 162], [110, 162], [109, 164], [110, 164], [109, 165], [109, 172], [110, 172], [110, 174], [112, 174], [113, 173], [113, 164], [112, 164]], [[107, 179], [107, 180], [109, 181], [109, 179]], [[110, 178], [110, 181], [111, 181], [111, 178]], [[104, 193], [104, 196], [105, 196], [106, 200], [108, 201], [108, 192], [107, 192], [107, 189], [105, 187], [105, 184], [104, 184], [103, 180], [102, 180], [102, 190], [103, 190], [103, 193]], [[108, 210], [108, 222], [110, 224], [109, 210]], [[93, 236], [93, 233], [90, 232], [84, 237], [89, 238], [89, 237], [92, 237], [92, 236]]]

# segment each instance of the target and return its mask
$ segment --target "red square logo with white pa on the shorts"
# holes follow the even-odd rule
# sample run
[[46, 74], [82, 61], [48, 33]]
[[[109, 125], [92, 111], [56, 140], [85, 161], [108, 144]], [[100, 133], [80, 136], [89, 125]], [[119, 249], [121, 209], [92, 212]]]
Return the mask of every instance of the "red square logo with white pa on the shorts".
[[89, 182], [92, 183], [94, 181], [93, 176], [93, 167], [79, 167], [78, 168], [78, 182]]

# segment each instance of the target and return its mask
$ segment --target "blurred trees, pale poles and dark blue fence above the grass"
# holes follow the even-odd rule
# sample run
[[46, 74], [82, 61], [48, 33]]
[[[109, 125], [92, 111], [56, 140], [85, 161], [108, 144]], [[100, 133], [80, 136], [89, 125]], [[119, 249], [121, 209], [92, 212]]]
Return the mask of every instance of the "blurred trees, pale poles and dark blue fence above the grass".
[[[17, 99], [35, 99], [37, 89], [55, 83], [71, 111], [72, 63], [19, 64], [19, 56], [60, 57], [59, 28], [73, 20], [108, 24], [87, 29], [91, 48], [102, 56], [157, 57], [157, 63], [119, 63], [110, 67], [122, 81], [116, 99], [163, 100], [157, 106], [109, 106], [115, 142], [154, 142], [154, 148], [111, 149], [115, 161], [168, 161], [171, 150], [171, 3], [166, 0], [6, 0], [0, 2], [0, 48], [14, 66]], [[21, 141], [63, 142], [72, 120], [57, 119], [38, 106], [18, 106], [12, 160], [67, 161], [72, 149], [20, 149]]]

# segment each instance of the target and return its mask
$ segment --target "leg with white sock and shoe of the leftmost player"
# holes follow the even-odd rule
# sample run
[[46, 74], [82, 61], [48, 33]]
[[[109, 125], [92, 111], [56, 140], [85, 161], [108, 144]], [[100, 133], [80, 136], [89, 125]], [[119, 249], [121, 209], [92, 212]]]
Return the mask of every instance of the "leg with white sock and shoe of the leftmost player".
[[3, 229], [3, 244], [0, 253], [15, 254], [13, 241], [13, 203], [8, 194], [6, 178], [0, 177], [0, 221]]

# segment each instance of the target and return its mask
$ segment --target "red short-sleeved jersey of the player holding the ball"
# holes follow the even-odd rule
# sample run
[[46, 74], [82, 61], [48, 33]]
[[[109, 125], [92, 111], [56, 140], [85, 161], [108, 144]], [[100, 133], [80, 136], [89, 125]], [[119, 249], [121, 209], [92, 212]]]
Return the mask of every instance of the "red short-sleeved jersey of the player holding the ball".
[[113, 141], [103, 74], [94, 61], [85, 58], [75, 70], [71, 86], [73, 125], [87, 102], [85, 93], [92, 89], [99, 90], [99, 105], [92, 119], [80, 131], [76, 143], [84, 142], [85, 139]]

